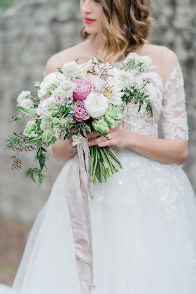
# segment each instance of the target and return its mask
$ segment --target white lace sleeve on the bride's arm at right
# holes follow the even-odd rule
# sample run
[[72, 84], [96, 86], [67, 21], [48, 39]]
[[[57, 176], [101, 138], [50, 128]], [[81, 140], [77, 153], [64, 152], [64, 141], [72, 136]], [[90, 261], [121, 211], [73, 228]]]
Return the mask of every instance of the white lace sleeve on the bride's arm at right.
[[177, 63], [165, 82], [163, 109], [161, 113], [164, 137], [188, 141], [184, 79], [181, 66]]

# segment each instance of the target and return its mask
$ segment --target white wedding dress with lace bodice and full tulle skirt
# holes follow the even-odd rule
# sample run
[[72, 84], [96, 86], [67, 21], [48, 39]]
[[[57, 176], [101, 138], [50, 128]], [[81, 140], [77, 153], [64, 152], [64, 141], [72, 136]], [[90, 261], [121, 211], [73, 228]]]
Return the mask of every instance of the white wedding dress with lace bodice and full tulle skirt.
[[[113, 65], [122, 67], [122, 62]], [[120, 128], [188, 141], [184, 82], [179, 63], [165, 84], [156, 71], [147, 86], [153, 118], [130, 104]], [[114, 147], [123, 170], [94, 187], [89, 200], [93, 238], [93, 294], [196, 294], [196, 196], [182, 165]], [[80, 294], [65, 181], [57, 176], [30, 231], [10, 289], [1, 294]]]

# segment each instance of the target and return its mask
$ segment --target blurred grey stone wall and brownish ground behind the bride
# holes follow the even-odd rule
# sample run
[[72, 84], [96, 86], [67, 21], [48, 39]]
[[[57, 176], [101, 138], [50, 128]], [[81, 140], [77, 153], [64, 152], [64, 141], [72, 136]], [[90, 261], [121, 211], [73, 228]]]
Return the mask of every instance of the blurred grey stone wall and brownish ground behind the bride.
[[[149, 41], [174, 50], [182, 66], [189, 124], [189, 157], [183, 165], [196, 191], [196, 2], [152, 0]], [[5, 139], [15, 125], [16, 98], [35, 91], [47, 60], [80, 42], [79, 0], [0, 0], [0, 282], [12, 284], [26, 238], [64, 162], [50, 156], [41, 188], [25, 178], [34, 153], [21, 154], [23, 169], [12, 171]], [[27, 120], [27, 119], [26, 119]], [[20, 129], [25, 126], [20, 124]], [[17, 130], [16, 130], [17, 131]], [[31, 156], [29, 156], [31, 155]]]

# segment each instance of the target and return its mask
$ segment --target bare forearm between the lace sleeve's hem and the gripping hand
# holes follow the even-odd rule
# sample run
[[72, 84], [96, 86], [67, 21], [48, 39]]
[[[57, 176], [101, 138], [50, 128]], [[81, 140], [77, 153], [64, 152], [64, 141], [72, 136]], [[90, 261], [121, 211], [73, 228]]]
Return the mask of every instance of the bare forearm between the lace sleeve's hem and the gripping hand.
[[182, 164], [188, 156], [188, 144], [179, 139], [162, 139], [126, 132], [125, 146], [163, 163]]

